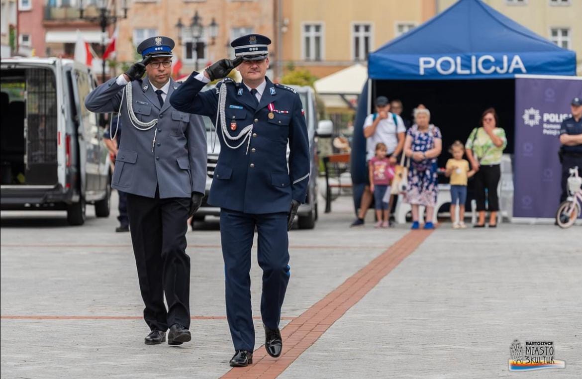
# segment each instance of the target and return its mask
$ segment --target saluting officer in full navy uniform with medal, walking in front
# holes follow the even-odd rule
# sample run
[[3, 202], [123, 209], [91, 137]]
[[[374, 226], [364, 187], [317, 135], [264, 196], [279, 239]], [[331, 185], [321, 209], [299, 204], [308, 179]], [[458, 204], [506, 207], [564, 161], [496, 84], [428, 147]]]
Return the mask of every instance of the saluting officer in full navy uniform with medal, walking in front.
[[[281, 355], [281, 306], [289, 282], [288, 230], [306, 201], [309, 144], [301, 100], [292, 88], [274, 84], [265, 72], [271, 40], [260, 34], [237, 38], [235, 60], [222, 59], [192, 75], [170, 102], [183, 112], [215, 122], [221, 151], [208, 204], [221, 208], [220, 229], [226, 275], [226, 315], [235, 355], [230, 366], [253, 362], [250, 267], [255, 227], [262, 268], [261, 316], [265, 348]], [[210, 80], [239, 70], [242, 83], [226, 78], [201, 91]], [[289, 144], [289, 168], [286, 157]]]

